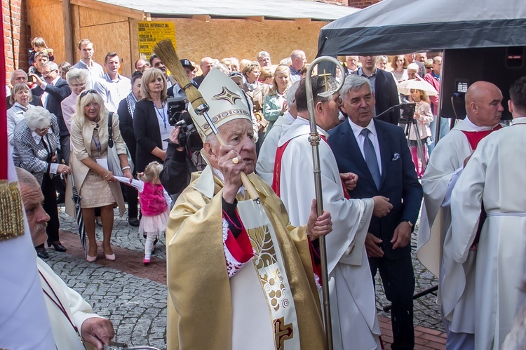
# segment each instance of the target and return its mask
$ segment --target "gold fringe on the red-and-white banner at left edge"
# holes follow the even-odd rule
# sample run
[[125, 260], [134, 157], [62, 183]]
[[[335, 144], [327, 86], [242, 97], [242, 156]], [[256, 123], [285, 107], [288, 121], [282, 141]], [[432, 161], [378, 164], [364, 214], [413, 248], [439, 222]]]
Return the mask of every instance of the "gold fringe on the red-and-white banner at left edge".
[[24, 234], [22, 196], [17, 182], [0, 180], [0, 241]]

